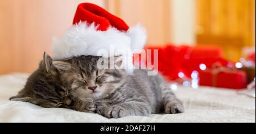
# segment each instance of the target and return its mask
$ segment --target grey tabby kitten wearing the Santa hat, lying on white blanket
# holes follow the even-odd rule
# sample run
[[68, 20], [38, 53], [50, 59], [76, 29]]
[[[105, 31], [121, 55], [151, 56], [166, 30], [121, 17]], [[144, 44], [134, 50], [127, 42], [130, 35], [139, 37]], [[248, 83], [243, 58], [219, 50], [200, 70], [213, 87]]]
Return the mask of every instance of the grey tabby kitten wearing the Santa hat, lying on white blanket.
[[[66, 84], [71, 98], [79, 100], [82, 106], [89, 104], [86, 111], [108, 118], [146, 116], [162, 111], [166, 114], [183, 112], [182, 103], [160, 74], [147, 76], [147, 70], [134, 70], [130, 75], [125, 70], [98, 69], [97, 61], [100, 59], [80, 56], [63, 62], [69, 67], [60, 74], [60, 81]], [[121, 62], [115, 59], [115, 65], [121, 65]], [[75, 107], [79, 109], [80, 105]]]

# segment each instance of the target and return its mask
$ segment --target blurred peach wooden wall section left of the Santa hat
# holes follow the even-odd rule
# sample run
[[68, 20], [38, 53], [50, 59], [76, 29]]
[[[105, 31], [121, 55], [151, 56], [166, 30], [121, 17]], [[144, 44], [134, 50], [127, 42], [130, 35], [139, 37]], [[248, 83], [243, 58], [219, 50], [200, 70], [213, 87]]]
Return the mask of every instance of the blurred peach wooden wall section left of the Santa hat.
[[[53, 36], [72, 24], [81, 0], [1, 0], [0, 74], [31, 73], [43, 52], [50, 52]], [[91, 1], [104, 6], [104, 0]]]

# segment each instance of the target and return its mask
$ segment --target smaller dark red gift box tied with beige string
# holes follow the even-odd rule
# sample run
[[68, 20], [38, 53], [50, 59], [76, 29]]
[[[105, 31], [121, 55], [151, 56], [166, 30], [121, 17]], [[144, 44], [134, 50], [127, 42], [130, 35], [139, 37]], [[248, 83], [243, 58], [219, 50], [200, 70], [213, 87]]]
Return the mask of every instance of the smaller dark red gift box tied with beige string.
[[247, 86], [247, 75], [244, 71], [221, 65], [199, 71], [199, 77], [201, 86], [228, 89], [245, 89]]

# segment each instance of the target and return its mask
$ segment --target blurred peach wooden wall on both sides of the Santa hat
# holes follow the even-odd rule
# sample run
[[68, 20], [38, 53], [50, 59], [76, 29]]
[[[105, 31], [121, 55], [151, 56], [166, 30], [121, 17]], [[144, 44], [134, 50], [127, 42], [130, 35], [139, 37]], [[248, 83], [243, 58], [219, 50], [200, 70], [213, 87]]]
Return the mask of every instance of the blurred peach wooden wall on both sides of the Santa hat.
[[[53, 36], [60, 37], [72, 24], [81, 0], [1, 0], [0, 74], [33, 72], [43, 52], [51, 55]], [[147, 28], [148, 44], [171, 41], [170, 0], [90, 0], [124, 19]]]

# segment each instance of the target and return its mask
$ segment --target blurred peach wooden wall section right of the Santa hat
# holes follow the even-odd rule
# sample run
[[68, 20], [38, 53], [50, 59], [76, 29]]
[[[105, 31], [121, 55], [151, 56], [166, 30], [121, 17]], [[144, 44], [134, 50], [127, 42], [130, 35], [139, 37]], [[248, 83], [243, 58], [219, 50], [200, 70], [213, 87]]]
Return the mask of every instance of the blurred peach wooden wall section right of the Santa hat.
[[165, 45], [172, 41], [171, 0], [108, 0], [106, 8], [129, 26], [146, 27], [148, 44]]

